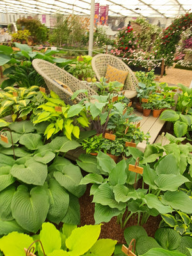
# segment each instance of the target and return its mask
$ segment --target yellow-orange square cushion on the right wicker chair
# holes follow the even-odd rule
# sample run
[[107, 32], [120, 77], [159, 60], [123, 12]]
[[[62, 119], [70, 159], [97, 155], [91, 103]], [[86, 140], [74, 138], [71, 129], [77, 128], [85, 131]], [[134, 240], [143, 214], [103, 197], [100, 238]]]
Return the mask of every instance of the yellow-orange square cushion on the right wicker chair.
[[117, 68], [114, 68], [108, 64], [106, 79], [108, 82], [118, 81], [119, 83], [124, 84], [128, 74], [128, 71], [118, 70]]

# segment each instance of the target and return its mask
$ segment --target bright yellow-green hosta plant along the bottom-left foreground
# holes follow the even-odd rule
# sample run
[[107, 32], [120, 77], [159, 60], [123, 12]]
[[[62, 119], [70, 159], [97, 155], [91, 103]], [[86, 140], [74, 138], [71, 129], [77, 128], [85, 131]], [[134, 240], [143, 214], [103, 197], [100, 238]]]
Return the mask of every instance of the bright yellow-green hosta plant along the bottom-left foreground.
[[[98, 255], [111, 256], [115, 250], [116, 240], [99, 239], [100, 225], [76, 225], [63, 224], [61, 230], [49, 222], [43, 223], [40, 234], [33, 238], [29, 235], [12, 232], [0, 239], [0, 250], [4, 255], [24, 256], [24, 248], [28, 249], [33, 243], [34, 253], [42, 255], [42, 247], [45, 255]], [[38, 241], [41, 241], [42, 246]], [[34, 241], [34, 242], [35, 242]]]

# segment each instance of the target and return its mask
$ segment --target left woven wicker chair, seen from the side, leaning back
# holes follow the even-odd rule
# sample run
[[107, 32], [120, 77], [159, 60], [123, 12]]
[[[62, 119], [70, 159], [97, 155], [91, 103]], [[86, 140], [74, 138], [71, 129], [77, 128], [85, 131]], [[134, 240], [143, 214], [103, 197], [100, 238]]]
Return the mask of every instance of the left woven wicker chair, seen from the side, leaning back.
[[[86, 89], [88, 90], [88, 96], [97, 95], [97, 92], [95, 92], [95, 90], [93, 90], [88, 83], [80, 81], [67, 71], [57, 67], [49, 61], [35, 59], [32, 61], [32, 64], [36, 72], [38, 72], [38, 74], [44, 78], [49, 91], [52, 90], [59, 95], [65, 104], [74, 104], [71, 97], [76, 90]], [[65, 84], [65, 88], [63, 88], [63, 86], [61, 86], [61, 84], [58, 82]], [[84, 93], [79, 93], [76, 101], [79, 102], [84, 97]]]

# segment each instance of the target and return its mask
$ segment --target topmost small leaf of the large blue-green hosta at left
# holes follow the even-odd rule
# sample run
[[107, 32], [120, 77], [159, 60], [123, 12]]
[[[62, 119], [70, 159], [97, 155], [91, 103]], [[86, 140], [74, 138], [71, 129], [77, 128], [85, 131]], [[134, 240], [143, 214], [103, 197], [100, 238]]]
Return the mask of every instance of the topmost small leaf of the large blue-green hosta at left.
[[31, 121], [20, 121], [10, 124], [10, 129], [17, 133], [24, 134], [34, 132], [35, 126], [31, 123]]

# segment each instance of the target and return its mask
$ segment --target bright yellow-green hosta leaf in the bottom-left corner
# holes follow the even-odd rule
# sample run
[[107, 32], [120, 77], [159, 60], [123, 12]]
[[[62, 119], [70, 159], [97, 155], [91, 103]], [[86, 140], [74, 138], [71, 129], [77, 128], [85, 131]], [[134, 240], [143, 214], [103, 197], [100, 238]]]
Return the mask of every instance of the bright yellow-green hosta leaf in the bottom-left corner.
[[0, 250], [4, 255], [25, 256], [24, 248], [33, 243], [33, 238], [27, 234], [12, 232], [0, 239]]

